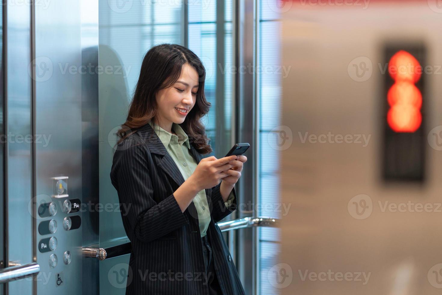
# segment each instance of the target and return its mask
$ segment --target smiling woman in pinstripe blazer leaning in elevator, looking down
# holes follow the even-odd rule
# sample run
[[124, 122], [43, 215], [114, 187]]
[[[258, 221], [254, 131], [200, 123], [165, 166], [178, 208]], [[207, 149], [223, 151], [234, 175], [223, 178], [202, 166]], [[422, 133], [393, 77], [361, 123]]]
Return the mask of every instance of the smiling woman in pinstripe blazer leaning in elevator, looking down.
[[183, 46], [143, 59], [110, 172], [132, 243], [126, 294], [244, 294], [216, 223], [236, 209], [247, 157], [202, 159], [212, 151], [200, 122], [205, 77]]

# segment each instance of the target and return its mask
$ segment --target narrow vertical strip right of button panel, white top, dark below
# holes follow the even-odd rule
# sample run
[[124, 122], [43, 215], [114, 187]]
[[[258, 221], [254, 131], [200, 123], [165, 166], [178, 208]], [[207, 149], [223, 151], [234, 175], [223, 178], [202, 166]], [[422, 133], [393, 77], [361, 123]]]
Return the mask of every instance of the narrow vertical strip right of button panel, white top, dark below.
[[[81, 64], [98, 66], [98, 0], [81, 0]], [[82, 194], [99, 203], [98, 75], [81, 75]], [[99, 244], [99, 212], [83, 212], [83, 247]], [[82, 294], [99, 294], [99, 261], [83, 258]]]

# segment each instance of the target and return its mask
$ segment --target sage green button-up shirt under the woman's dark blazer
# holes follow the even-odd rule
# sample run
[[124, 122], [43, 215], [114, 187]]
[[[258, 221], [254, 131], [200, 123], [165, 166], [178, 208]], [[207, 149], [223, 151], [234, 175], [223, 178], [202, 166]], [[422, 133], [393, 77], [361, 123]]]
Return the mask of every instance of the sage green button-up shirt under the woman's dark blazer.
[[[154, 125], [151, 122], [149, 122], [149, 124], [150, 126]], [[184, 180], [187, 180], [187, 178], [189, 178], [195, 171], [198, 164], [189, 151], [191, 146], [186, 132], [184, 132], [183, 128], [176, 123], [172, 123], [172, 130], [176, 135], [169, 133], [158, 125], [152, 126], [152, 129], [155, 131], [156, 135], [158, 135], [158, 138], [160, 138], [160, 141], [163, 143], [167, 152], [175, 161]], [[229, 207], [232, 205], [233, 199], [234, 195], [232, 191], [230, 192], [227, 202], [225, 202], [225, 206]], [[198, 192], [193, 199], [193, 202], [196, 211], [198, 212], [198, 223], [201, 237], [204, 237], [210, 223], [210, 210], [209, 204], [207, 203], [206, 190], [202, 189]]]

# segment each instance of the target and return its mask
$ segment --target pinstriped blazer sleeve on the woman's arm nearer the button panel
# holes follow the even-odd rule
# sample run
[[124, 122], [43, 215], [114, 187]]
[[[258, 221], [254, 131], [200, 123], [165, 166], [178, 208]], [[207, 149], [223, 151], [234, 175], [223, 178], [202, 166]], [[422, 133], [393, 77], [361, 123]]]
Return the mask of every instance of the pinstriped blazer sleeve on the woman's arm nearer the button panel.
[[[116, 150], [114, 154], [115, 182], [120, 203], [131, 231], [142, 242], [149, 242], [189, 223], [173, 193], [159, 203], [155, 202], [145, 146], [132, 145]], [[152, 176], [155, 181], [156, 176]], [[161, 184], [160, 184], [161, 185]], [[128, 237], [130, 235], [128, 234]]]

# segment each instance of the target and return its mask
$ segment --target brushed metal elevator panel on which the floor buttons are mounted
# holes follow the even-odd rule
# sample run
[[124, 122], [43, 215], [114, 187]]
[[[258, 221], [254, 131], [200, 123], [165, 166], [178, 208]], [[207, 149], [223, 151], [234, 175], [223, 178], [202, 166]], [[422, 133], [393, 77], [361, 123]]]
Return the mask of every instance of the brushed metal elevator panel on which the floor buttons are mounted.
[[[82, 293], [82, 230], [89, 225], [83, 220], [80, 228], [64, 230], [63, 219], [72, 215], [83, 218], [83, 213], [88, 215], [89, 207], [80, 207], [79, 212], [69, 215], [62, 210], [65, 199], [76, 198], [84, 203], [82, 147], [88, 142], [82, 142], [82, 135], [87, 132], [89, 119], [83, 126], [81, 103], [83, 94], [85, 98], [90, 97], [90, 88], [82, 93], [84, 77], [90, 71], [81, 67], [84, 62], [81, 19], [84, 16], [82, 10], [90, 11], [88, 6], [81, 7], [82, 3], [51, 1], [46, 6], [42, 3], [34, 5], [34, 134], [43, 137], [34, 143], [34, 195], [37, 203], [52, 201], [58, 207], [57, 214], [52, 217], [57, 222], [57, 231], [43, 236], [36, 231], [37, 243], [48, 236], [54, 236], [58, 241], [53, 251], [41, 253], [38, 248], [36, 250], [41, 272], [46, 275], [36, 282], [37, 294]], [[68, 198], [52, 197], [54, 181], [51, 178], [56, 176], [69, 177]], [[34, 243], [35, 247], [37, 243]], [[68, 265], [63, 263], [65, 251], [72, 254]], [[58, 263], [54, 268], [49, 264], [50, 254], [57, 255]], [[59, 275], [63, 283], [58, 286]]]

